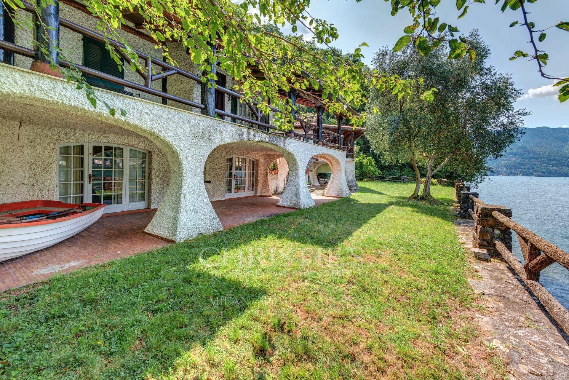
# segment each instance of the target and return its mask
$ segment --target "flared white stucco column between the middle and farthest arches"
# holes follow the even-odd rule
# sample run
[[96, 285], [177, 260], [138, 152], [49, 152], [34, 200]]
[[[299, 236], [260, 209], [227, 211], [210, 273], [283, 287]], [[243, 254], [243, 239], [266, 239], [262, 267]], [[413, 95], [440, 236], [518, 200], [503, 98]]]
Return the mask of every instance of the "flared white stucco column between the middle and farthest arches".
[[288, 181], [284, 187], [283, 195], [277, 205], [292, 208], [309, 208], [314, 206], [314, 199], [306, 186], [306, 161], [299, 165], [294, 156], [285, 156], [288, 164]]

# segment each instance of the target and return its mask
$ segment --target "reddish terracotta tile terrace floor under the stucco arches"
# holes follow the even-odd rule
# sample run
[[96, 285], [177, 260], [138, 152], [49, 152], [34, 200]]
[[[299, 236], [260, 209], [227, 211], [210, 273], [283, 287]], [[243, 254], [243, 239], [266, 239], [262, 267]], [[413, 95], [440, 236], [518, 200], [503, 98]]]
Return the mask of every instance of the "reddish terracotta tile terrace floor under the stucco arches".
[[[312, 193], [316, 205], [337, 200], [318, 189]], [[224, 229], [294, 211], [279, 207], [278, 196], [212, 202]], [[43, 281], [57, 273], [128, 257], [169, 245], [143, 233], [155, 210], [102, 217], [92, 226], [46, 249], [0, 262], [0, 291]]]

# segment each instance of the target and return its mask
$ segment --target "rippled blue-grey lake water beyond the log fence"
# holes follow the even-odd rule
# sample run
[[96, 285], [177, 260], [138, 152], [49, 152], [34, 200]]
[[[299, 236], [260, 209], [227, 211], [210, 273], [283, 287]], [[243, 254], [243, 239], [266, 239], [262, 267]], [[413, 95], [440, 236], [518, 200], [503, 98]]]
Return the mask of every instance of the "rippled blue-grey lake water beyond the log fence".
[[[485, 203], [512, 209], [512, 219], [569, 252], [569, 178], [490, 176], [477, 189]], [[513, 234], [513, 253], [522, 259]], [[569, 271], [558, 263], [543, 271], [539, 282], [569, 309]]]

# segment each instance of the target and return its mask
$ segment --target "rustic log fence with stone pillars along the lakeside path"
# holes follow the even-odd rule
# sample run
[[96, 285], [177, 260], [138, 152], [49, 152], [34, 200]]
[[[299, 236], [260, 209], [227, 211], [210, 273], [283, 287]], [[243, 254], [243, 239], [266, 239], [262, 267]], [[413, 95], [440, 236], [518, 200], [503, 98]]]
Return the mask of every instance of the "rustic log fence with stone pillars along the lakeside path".
[[[509, 208], [486, 204], [479, 199], [478, 193], [469, 190], [468, 186], [460, 187], [458, 199], [461, 217], [471, 217], [474, 220], [473, 249], [500, 254], [541, 301], [559, 327], [569, 334], [569, 311], [539, 283], [539, 273], [552, 263], [559, 263], [569, 270], [569, 254], [514, 222]], [[512, 230], [518, 238], [524, 265], [512, 254]]]

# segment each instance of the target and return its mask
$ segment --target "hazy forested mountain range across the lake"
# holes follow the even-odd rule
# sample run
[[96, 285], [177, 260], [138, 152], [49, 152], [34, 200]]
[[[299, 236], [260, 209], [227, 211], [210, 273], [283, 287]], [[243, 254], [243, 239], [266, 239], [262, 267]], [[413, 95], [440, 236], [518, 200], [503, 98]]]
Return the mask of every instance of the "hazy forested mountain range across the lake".
[[494, 175], [569, 177], [569, 128], [525, 128], [508, 152], [489, 162]]

